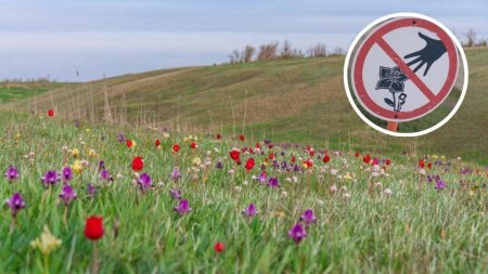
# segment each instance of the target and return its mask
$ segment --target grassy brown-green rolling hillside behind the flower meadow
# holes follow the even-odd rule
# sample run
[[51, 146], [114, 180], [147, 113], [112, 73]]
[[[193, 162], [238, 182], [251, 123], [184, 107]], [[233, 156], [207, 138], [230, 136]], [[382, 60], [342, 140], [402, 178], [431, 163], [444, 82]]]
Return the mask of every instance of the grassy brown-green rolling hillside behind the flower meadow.
[[[458, 114], [416, 139], [385, 136], [352, 110], [343, 56], [155, 70], [69, 84], [3, 108], [69, 119], [241, 134], [371, 152], [461, 156], [488, 164], [488, 50], [466, 50], [470, 87]], [[400, 125], [401, 127], [401, 125]]]

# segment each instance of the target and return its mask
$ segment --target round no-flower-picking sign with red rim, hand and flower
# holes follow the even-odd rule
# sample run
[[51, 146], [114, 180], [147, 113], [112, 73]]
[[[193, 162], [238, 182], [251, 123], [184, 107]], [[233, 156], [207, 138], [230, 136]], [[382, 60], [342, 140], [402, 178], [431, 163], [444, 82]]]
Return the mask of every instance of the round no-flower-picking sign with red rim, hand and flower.
[[[467, 88], [464, 53], [445, 26], [420, 14], [393, 14], [374, 22], [356, 38], [345, 64], [346, 89], [350, 79], [357, 101], [383, 120], [419, 119], [451, 92], [461, 63], [459, 54]], [[349, 62], [350, 71], [346, 68]]]

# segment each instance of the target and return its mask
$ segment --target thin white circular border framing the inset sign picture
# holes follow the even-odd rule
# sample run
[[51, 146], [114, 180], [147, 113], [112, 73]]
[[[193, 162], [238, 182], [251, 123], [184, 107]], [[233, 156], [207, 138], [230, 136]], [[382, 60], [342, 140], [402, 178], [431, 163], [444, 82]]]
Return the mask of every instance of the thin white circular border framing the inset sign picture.
[[[446, 34], [449, 35], [449, 37], [451, 38], [451, 40], [454, 42], [455, 47], [458, 48], [458, 51], [461, 55], [461, 60], [463, 61], [463, 70], [464, 70], [464, 81], [463, 81], [463, 89], [461, 91], [461, 96], [458, 100], [458, 103], [455, 104], [454, 108], [452, 108], [452, 110], [449, 113], [448, 116], [446, 116], [446, 118], [444, 118], [441, 121], [439, 121], [437, 125], [425, 129], [425, 130], [421, 130], [418, 132], [411, 132], [411, 133], [403, 133], [403, 132], [393, 132], [389, 130], [386, 130], [377, 125], [375, 125], [374, 122], [372, 122], [371, 120], [369, 120], [362, 113], [361, 110], [359, 110], [358, 106], [355, 104], [355, 101], [352, 100], [352, 95], [351, 95], [351, 90], [349, 87], [349, 82], [348, 82], [348, 67], [349, 67], [349, 60], [350, 56], [352, 54], [352, 51], [356, 48], [356, 44], [359, 42], [359, 40], [375, 25], [383, 23], [384, 21], [390, 19], [390, 18], [395, 18], [395, 17], [418, 17], [418, 18], [422, 18], [422, 19], [426, 19], [429, 21], [434, 24], [436, 24], [437, 26], [439, 26], [444, 31], [446, 31]], [[400, 12], [400, 13], [393, 13], [393, 14], [388, 14], [385, 15], [381, 18], [377, 18], [375, 21], [373, 21], [372, 23], [370, 23], [367, 27], [364, 27], [361, 32], [359, 32], [355, 40], [352, 41], [352, 44], [349, 47], [349, 50], [347, 51], [347, 55], [346, 55], [346, 61], [344, 63], [344, 87], [346, 89], [346, 95], [347, 99], [349, 100], [350, 105], [352, 106], [352, 108], [355, 109], [355, 112], [358, 114], [359, 117], [361, 117], [361, 119], [363, 121], [365, 121], [370, 127], [372, 127], [373, 129], [385, 133], [387, 135], [391, 135], [391, 136], [421, 136], [427, 133], [433, 132], [434, 130], [442, 127], [446, 122], [448, 122], [452, 116], [454, 116], [454, 114], [458, 112], [458, 109], [461, 107], [461, 104], [464, 101], [464, 96], [466, 95], [466, 91], [467, 91], [467, 81], [468, 81], [468, 71], [467, 71], [467, 61], [466, 61], [466, 55], [464, 54], [464, 50], [461, 45], [461, 43], [458, 41], [458, 39], [455, 38], [455, 36], [451, 32], [451, 30], [449, 30], [446, 26], [444, 26], [440, 22], [431, 18], [426, 15], [420, 14], [420, 13], [413, 13], [413, 12]]]

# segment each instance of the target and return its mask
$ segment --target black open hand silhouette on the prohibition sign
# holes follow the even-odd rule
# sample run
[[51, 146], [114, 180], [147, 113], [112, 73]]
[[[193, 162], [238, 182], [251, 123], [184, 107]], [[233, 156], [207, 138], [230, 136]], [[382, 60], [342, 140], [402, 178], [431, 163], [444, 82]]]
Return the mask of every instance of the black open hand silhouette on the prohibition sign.
[[431, 37], [425, 36], [424, 34], [419, 32], [420, 38], [422, 38], [427, 44], [420, 51], [415, 51], [413, 53], [404, 55], [404, 58], [411, 58], [415, 57], [413, 61], [410, 61], [407, 65], [411, 66], [415, 63], [421, 62], [415, 69], [413, 69], [413, 73], [416, 73], [424, 64], [427, 64], [427, 67], [425, 68], [424, 76], [427, 75], [428, 69], [431, 68], [432, 64], [436, 62], [440, 56], [442, 56], [444, 53], [447, 52], [446, 45], [444, 45], [442, 41], [432, 39]]

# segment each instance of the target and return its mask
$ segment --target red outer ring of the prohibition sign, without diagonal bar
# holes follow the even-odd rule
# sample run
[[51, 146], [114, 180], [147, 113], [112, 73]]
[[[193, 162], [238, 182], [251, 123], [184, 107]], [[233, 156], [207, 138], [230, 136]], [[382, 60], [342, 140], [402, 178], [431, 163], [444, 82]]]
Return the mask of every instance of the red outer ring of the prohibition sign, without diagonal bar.
[[[383, 37], [386, 34], [402, 27], [411, 27], [412, 25], [435, 32], [440, 38], [442, 43], [446, 45], [449, 57], [448, 76], [440, 91], [437, 92], [437, 94], [435, 94], [434, 100], [431, 100], [423, 106], [418, 107], [410, 112], [393, 112], [377, 105], [368, 94], [367, 89], [364, 87], [364, 82], [362, 80], [363, 65], [371, 48], [380, 39], [383, 39]], [[398, 65], [398, 62], [395, 63]], [[355, 87], [354, 90], [356, 93], [356, 97], [370, 114], [386, 120], [408, 121], [427, 115], [428, 113], [434, 110], [438, 105], [440, 105], [440, 103], [442, 103], [442, 101], [448, 96], [458, 75], [458, 51], [454, 43], [450, 39], [449, 35], [436, 24], [416, 17], [403, 17], [400, 19], [391, 21], [381, 26], [378, 29], [374, 30], [374, 32], [372, 32], [358, 49], [358, 53], [352, 63], [352, 67], [354, 67], [352, 84]]]

